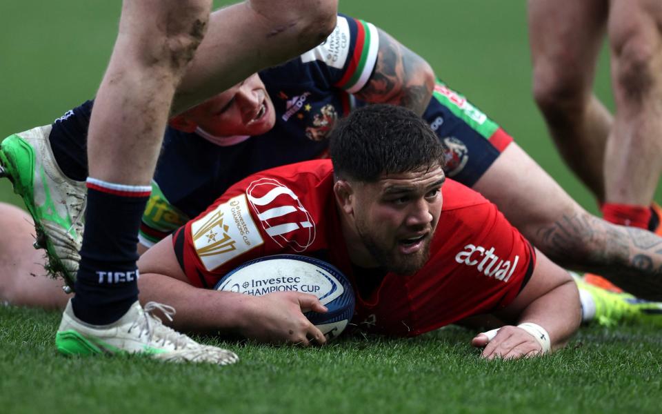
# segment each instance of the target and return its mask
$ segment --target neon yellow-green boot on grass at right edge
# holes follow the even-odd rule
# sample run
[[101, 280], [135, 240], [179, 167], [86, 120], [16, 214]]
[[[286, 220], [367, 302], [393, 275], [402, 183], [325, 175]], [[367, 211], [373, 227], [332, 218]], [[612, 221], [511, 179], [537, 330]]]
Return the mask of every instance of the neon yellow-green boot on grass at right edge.
[[614, 293], [585, 283], [574, 275], [579, 290], [589, 293], [595, 303], [594, 320], [603, 326], [617, 324], [662, 326], [662, 303], [649, 302], [630, 295]]

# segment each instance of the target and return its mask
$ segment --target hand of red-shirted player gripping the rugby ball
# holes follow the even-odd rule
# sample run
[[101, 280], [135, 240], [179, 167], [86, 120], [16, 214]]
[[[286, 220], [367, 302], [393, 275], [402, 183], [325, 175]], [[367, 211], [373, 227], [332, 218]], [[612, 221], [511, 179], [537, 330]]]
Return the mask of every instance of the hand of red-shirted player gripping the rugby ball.
[[303, 346], [326, 342], [323, 333], [303, 315], [308, 311], [327, 311], [317, 296], [276, 292], [264, 296], [247, 296], [245, 299], [239, 328], [239, 333], [244, 337], [271, 344]]

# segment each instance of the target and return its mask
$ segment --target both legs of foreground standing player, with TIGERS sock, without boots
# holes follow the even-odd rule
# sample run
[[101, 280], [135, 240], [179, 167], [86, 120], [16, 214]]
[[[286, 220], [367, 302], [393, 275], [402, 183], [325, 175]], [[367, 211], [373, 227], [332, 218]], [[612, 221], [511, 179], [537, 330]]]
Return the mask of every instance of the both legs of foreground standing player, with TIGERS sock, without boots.
[[[180, 85], [203, 39], [211, 1], [124, 1], [88, 132], [86, 230], [72, 299], [74, 313], [88, 322], [112, 321], [114, 309], [127, 308], [137, 297], [137, 284], [128, 276], [137, 269], [135, 236], [176, 88], [181, 86], [175, 108], [180, 110], [307, 50], [334, 28], [334, 0], [281, 0], [282, 10], [273, 3], [252, 0], [218, 13], [202, 56]], [[124, 282], [108, 282], [111, 273], [126, 274], [131, 290]]]

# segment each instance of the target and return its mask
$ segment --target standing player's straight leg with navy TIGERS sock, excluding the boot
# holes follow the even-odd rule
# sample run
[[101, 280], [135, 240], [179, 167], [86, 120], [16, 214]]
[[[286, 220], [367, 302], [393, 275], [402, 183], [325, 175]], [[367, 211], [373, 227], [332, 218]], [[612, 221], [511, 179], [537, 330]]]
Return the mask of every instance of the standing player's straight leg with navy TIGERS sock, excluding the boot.
[[174, 90], [203, 39], [211, 3], [123, 1], [88, 130], [86, 230], [72, 308], [90, 324], [116, 321], [137, 300], [139, 220]]

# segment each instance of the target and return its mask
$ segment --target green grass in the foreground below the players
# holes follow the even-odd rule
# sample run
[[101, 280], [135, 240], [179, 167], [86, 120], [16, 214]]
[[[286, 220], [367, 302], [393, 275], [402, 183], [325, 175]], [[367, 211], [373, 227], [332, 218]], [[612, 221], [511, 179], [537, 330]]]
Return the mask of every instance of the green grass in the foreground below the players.
[[62, 357], [59, 313], [0, 320], [3, 413], [656, 413], [662, 399], [654, 328], [584, 328], [564, 351], [510, 362], [480, 359], [461, 328], [308, 349], [221, 342], [241, 362], [219, 368]]

